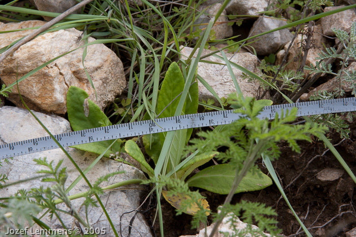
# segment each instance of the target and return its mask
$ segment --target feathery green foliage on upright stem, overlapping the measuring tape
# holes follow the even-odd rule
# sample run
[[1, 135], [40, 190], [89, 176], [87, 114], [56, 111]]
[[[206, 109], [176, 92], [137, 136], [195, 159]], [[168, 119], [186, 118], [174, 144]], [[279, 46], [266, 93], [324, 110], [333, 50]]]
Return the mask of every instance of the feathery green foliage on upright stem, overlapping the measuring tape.
[[[228, 101], [229, 104], [240, 108], [236, 110], [236, 113], [241, 113], [244, 117], [232, 124], [226, 125], [225, 129], [199, 132], [198, 135], [204, 138], [204, 140], [191, 140], [193, 145], [189, 148], [190, 151], [202, 149], [204, 152], [207, 152], [217, 150], [223, 146], [226, 151], [220, 152], [217, 158], [222, 162], [228, 162], [235, 169], [235, 179], [225, 199], [224, 212], [218, 215], [217, 223], [220, 223], [227, 213], [233, 212], [234, 209], [226, 205], [230, 204], [232, 195], [236, 188], [239, 187], [243, 177], [245, 177], [249, 171], [257, 172], [258, 168], [254, 164], [256, 159], [260, 158], [262, 154], [278, 158], [280, 155], [278, 142], [280, 141], [287, 142], [292, 150], [300, 152], [300, 147], [296, 141], [311, 141], [310, 134], [317, 136], [319, 132], [327, 130], [325, 126], [318, 124], [289, 124], [295, 120], [296, 108], [287, 111], [285, 114], [276, 115], [275, 120], [270, 122], [268, 119], [259, 119], [256, 117], [262, 110], [264, 101], [256, 101], [251, 97], [246, 97], [244, 101], [235, 94], [230, 94]], [[249, 210], [245, 210], [247, 216], [243, 216], [243, 218], [249, 223], [251, 223], [252, 212], [263, 213], [265, 211], [263, 207], [259, 205], [247, 205], [246, 207]], [[243, 206], [239, 204], [236, 206], [236, 210], [241, 211], [241, 208], [243, 208]], [[239, 212], [235, 213], [238, 214]], [[274, 212], [266, 212], [265, 214], [268, 213], [275, 215]], [[277, 233], [273, 225], [275, 221], [264, 218], [259, 220], [261, 220], [262, 228], [265, 228], [271, 233]], [[216, 231], [216, 229], [213, 229], [213, 232], [214, 231]]]

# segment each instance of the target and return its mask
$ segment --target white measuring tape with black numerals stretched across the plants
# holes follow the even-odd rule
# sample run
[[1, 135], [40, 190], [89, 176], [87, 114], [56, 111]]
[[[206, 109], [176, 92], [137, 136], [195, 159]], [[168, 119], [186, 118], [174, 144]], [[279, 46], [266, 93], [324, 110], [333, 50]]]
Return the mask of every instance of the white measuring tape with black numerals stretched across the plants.
[[[281, 110], [291, 109], [293, 107], [298, 108], [297, 116], [351, 112], [356, 111], [356, 98], [315, 100], [295, 104], [266, 106], [258, 117], [260, 119], [274, 119], [276, 113], [281, 114]], [[241, 114], [233, 113], [233, 110], [225, 110], [160, 118], [156, 119], [155, 122], [146, 120], [98, 127], [57, 134], [54, 135], [54, 137], [63, 147], [69, 147], [84, 143], [135, 137], [150, 133], [229, 124], [240, 117]], [[9, 143], [0, 145], [0, 159], [55, 148], [58, 148], [58, 146], [49, 136]]]

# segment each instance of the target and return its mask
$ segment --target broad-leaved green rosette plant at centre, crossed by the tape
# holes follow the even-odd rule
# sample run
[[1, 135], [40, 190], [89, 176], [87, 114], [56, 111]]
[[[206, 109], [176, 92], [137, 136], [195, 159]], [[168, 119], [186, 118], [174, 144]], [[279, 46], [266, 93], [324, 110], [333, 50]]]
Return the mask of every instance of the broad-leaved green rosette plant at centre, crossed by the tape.
[[[159, 118], [171, 117], [174, 115], [179, 97], [184, 87], [184, 78], [179, 66], [173, 62], [162, 82], [161, 91], [158, 97], [157, 113]], [[189, 90], [186, 104], [183, 109], [184, 114], [194, 114], [198, 108], [198, 85], [193, 83]], [[146, 115], [146, 118], [148, 116]], [[157, 126], [152, 123], [152, 126]], [[192, 129], [182, 129], [175, 132], [171, 147], [169, 149], [169, 162], [165, 166], [163, 176], [168, 175], [172, 179], [185, 181], [185, 179], [192, 173], [192, 171], [210, 161], [218, 152], [211, 150], [209, 152], [200, 152], [185, 163], [182, 167], [176, 168], [184, 159], [186, 147]], [[157, 164], [158, 158], [162, 151], [162, 144], [165, 140], [165, 133], [156, 133], [143, 136], [142, 140], [145, 146], [145, 151], [151, 156], [154, 163]], [[154, 168], [152, 168], [144, 159], [144, 155], [139, 149], [138, 145], [133, 141], [127, 141], [125, 150], [134, 159], [140, 162], [142, 170], [151, 178], [154, 177]], [[196, 175], [192, 176], [186, 182], [189, 187], [199, 187], [215, 193], [227, 194], [231, 188], [235, 172], [229, 164], [214, 165], [205, 168]], [[248, 173], [242, 181], [242, 185], [237, 192], [246, 192], [252, 190], [260, 190], [272, 184], [269, 177], [265, 176], [260, 171], [256, 173]], [[170, 187], [168, 186], [168, 190]], [[169, 201], [165, 195], [164, 197]], [[170, 201], [169, 201], [170, 202]], [[170, 202], [172, 204], [172, 202]], [[173, 205], [173, 204], [172, 204]], [[179, 208], [179, 205], [173, 205]], [[191, 214], [191, 213], [189, 213]]]

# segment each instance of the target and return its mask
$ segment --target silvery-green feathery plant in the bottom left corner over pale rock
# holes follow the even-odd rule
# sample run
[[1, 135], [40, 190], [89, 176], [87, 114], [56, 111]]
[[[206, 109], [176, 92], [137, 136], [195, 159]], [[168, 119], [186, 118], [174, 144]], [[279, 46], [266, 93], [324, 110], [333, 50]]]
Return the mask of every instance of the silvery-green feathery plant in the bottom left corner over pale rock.
[[[67, 230], [68, 226], [64, 225], [60, 213], [71, 215], [82, 225], [90, 227], [72, 208], [70, 199], [66, 194], [64, 185], [67, 180], [67, 174], [66, 167], [61, 167], [63, 160], [59, 161], [55, 166], [53, 166], [53, 161], [48, 162], [46, 158], [35, 159], [35, 162], [46, 167], [46, 169], [38, 171], [39, 174], [45, 176], [41, 181], [53, 183], [53, 186], [18, 190], [15, 196], [3, 201], [0, 209], [0, 220], [4, 225], [1, 228], [0, 236], [6, 236], [4, 231], [8, 228], [28, 229], [27, 225], [31, 226], [34, 222], [44, 229], [49, 229], [46, 224], [37, 219], [40, 211], [44, 209], [48, 209], [50, 218], [55, 216], [61, 221], [63, 228]], [[88, 196], [88, 198], [91, 197]], [[58, 209], [55, 206], [55, 199], [61, 199], [71, 211]], [[26, 226], [27, 228], [25, 228]]]

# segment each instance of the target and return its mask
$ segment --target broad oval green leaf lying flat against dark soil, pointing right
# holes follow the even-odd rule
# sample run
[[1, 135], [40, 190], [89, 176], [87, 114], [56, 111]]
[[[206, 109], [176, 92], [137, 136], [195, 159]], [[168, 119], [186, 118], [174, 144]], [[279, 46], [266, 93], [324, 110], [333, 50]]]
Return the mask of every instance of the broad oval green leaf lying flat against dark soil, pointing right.
[[[200, 171], [190, 178], [187, 183], [190, 187], [203, 188], [219, 194], [228, 194], [235, 178], [236, 171], [229, 164], [218, 164]], [[235, 193], [261, 190], [272, 185], [270, 177], [258, 171], [251, 172], [242, 179]]]

